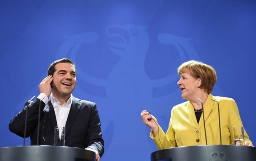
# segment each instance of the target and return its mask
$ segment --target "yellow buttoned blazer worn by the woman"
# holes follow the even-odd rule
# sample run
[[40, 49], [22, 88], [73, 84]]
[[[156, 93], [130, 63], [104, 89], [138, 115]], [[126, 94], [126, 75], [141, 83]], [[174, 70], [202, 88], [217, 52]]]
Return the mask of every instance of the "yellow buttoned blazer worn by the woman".
[[[220, 145], [220, 130], [218, 119], [218, 101], [220, 108], [221, 141], [223, 145], [234, 144], [233, 126], [243, 126], [236, 102], [232, 98], [208, 95], [204, 105], [205, 129], [208, 145]], [[186, 101], [174, 106], [167, 132], [159, 126], [157, 135], [150, 133], [159, 150], [169, 147], [206, 145], [203, 114], [196, 120], [192, 103]], [[244, 140], [250, 141], [244, 130]]]

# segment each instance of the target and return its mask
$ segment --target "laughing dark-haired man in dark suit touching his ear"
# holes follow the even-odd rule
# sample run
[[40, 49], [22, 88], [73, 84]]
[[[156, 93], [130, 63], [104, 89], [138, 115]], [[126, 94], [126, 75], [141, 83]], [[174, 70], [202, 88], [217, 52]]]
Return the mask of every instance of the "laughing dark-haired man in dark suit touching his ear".
[[30, 137], [31, 145], [37, 145], [37, 141], [39, 145], [53, 145], [54, 127], [65, 126], [65, 146], [91, 150], [99, 161], [104, 141], [96, 103], [75, 98], [72, 95], [75, 86], [75, 64], [67, 58], [54, 61], [49, 66], [48, 76], [38, 86], [37, 99], [26, 103], [27, 108], [10, 121], [9, 130], [24, 136], [27, 109], [26, 137]]

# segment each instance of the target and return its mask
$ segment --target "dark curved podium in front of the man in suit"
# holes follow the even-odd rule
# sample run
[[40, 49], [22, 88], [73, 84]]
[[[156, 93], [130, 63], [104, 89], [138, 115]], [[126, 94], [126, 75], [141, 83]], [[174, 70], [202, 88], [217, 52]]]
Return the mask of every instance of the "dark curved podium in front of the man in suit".
[[3, 147], [0, 148], [0, 161], [95, 161], [95, 153], [75, 147]]

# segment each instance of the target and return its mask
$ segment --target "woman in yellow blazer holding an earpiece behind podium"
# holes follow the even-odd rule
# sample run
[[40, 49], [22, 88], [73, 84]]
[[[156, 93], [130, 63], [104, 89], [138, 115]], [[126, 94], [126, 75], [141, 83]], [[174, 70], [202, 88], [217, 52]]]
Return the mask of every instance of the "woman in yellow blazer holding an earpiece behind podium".
[[[172, 108], [166, 134], [154, 116], [146, 110], [141, 112], [143, 123], [151, 128], [150, 137], [157, 148], [162, 150], [202, 144], [234, 144], [233, 126], [243, 124], [232, 98], [211, 94], [217, 80], [215, 69], [205, 63], [190, 60], [181, 64], [177, 72], [180, 75], [177, 85], [180, 87], [181, 97], [188, 101]], [[246, 146], [253, 146], [245, 130], [244, 140]]]

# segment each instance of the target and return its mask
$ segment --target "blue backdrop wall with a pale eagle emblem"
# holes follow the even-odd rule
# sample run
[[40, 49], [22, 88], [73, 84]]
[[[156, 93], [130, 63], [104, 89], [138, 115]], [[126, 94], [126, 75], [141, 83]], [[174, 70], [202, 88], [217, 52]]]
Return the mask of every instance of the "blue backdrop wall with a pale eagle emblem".
[[185, 101], [177, 67], [191, 59], [215, 68], [212, 94], [236, 100], [256, 144], [256, 1], [1, 0], [0, 16], [0, 147], [23, 144], [9, 121], [63, 57], [76, 63], [73, 95], [97, 103], [102, 161], [150, 160], [157, 148], [140, 112], [166, 131], [172, 106]]

